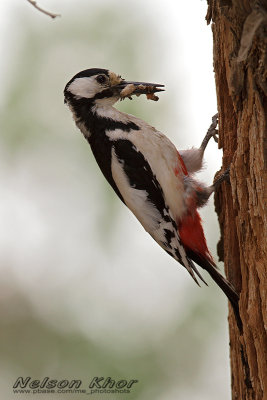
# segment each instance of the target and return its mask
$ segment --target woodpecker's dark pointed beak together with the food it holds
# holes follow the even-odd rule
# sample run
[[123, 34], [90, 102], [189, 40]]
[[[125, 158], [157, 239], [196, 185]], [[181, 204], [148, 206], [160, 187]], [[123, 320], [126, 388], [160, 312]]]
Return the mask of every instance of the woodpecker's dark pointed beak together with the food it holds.
[[163, 87], [164, 85], [157, 83], [121, 81], [112, 89], [117, 92], [121, 99], [125, 97], [131, 98], [132, 95], [140, 96], [141, 94], [146, 94], [148, 99], [158, 100], [158, 97], [154, 93], [163, 92]]

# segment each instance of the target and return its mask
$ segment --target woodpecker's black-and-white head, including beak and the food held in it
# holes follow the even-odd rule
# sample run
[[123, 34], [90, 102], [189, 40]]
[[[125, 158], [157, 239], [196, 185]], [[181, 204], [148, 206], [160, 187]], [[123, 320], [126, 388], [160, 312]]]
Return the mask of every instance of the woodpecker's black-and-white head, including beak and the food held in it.
[[147, 82], [125, 81], [120, 75], [101, 68], [91, 68], [76, 74], [64, 89], [65, 103], [74, 106], [87, 102], [91, 106], [111, 106], [116, 101], [133, 95], [146, 94], [157, 100], [154, 95], [161, 92], [164, 85]]

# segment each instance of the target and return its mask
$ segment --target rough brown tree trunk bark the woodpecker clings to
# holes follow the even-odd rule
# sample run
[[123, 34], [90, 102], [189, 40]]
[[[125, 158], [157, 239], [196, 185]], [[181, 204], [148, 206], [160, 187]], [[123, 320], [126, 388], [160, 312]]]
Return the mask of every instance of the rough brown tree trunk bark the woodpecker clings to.
[[223, 168], [218, 254], [240, 292], [229, 310], [232, 398], [267, 399], [267, 1], [208, 0]]

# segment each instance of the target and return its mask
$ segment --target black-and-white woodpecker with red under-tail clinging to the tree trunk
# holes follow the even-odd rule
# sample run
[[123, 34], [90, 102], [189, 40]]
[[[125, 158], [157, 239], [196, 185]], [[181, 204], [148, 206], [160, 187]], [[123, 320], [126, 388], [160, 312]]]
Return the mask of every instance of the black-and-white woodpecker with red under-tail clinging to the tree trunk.
[[[157, 100], [164, 85], [125, 81], [107, 69], [76, 74], [64, 89], [77, 127], [91, 146], [106, 180], [152, 238], [187, 269], [198, 284], [205, 280], [195, 263], [206, 270], [228, 297], [238, 322], [239, 296], [217, 270], [208, 250], [198, 208], [229, 175], [211, 186], [198, 182], [205, 148], [216, 139], [217, 115], [199, 148], [178, 151], [161, 132], [113, 105], [133, 95]], [[240, 325], [240, 324], [239, 324]]]

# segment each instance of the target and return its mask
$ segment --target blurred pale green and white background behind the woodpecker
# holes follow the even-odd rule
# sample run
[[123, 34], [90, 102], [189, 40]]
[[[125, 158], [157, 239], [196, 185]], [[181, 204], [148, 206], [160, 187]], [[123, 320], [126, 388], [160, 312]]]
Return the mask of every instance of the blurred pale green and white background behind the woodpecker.
[[[93, 399], [230, 398], [225, 297], [207, 276], [197, 287], [115, 197], [62, 93], [91, 67], [163, 83], [157, 103], [118, 107], [198, 146], [216, 112], [206, 1], [38, 5], [61, 17], [0, 3], [1, 398], [29, 398], [13, 394], [19, 376], [139, 381]], [[212, 182], [221, 156], [211, 141], [200, 179]], [[216, 257], [213, 199], [201, 215]]]

